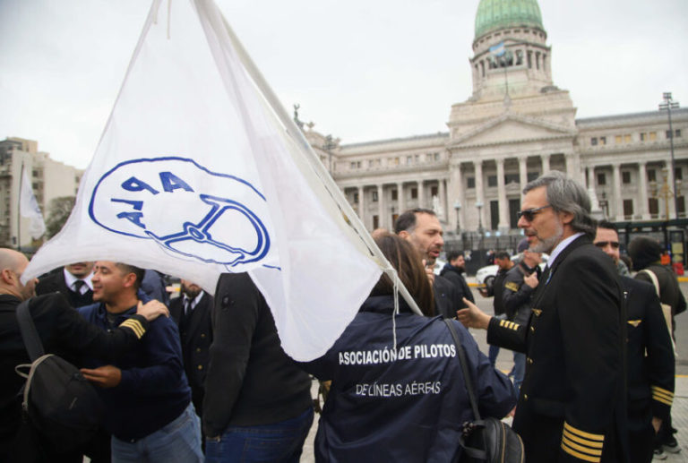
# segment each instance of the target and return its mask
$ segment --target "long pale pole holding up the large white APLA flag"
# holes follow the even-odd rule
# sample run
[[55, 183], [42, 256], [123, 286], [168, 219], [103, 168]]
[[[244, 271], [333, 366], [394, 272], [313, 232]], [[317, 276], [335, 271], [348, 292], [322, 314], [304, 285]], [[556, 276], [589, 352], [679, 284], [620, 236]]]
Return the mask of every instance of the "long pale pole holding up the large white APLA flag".
[[236, 53], [239, 59], [245, 66], [246, 72], [253, 79], [255, 85], [258, 87], [258, 90], [261, 91], [262, 96], [265, 99], [267, 99], [272, 110], [279, 117], [280, 122], [285, 126], [287, 133], [289, 133], [294, 139], [296, 139], [295, 141], [299, 142], [299, 144], [301, 144], [301, 146], [304, 148], [305, 152], [309, 156], [309, 164], [311, 167], [313, 167], [315, 175], [318, 176], [320, 181], [323, 183], [325, 189], [328, 191], [328, 193], [330, 193], [332, 199], [337, 202], [337, 205], [346, 215], [347, 219], [349, 219], [351, 227], [353, 227], [354, 230], [357, 232], [357, 235], [361, 238], [361, 241], [363, 241], [363, 243], [366, 244], [368, 251], [379, 262], [383, 263], [383, 271], [390, 277], [393, 283], [397, 284], [400, 295], [409, 304], [411, 310], [413, 310], [413, 312], [417, 313], [418, 315], [423, 315], [423, 313], [418, 308], [416, 301], [410, 295], [409, 290], [404, 286], [404, 284], [399, 279], [397, 271], [394, 270], [394, 268], [391, 266], [391, 263], [387, 261], [382, 251], [380, 251], [380, 248], [377, 247], [377, 244], [375, 244], [373, 237], [370, 236], [370, 234], [367, 232], [366, 227], [361, 222], [361, 219], [358, 217], [357, 213], [351, 208], [351, 205], [348, 203], [348, 201], [346, 201], [346, 198], [343, 197], [340, 187], [334, 183], [334, 180], [330, 176], [330, 173], [324, 167], [320, 159], [318, 159], [310, 143], [308, 143], [308, 141], [305, 139], [304, 134], [297, 127], [297, 124], [295, 124], [294, 121], [291, 120], [291, 117], [289, 117], [287, 112], [284, 110], [284, 107], [282, 107], [280, 100], [272, 91], [268, 82], [265, 81], [265, 79], [262, 77], [262, 73], [255, 66], [251, 57], [248, 56], [248, 54], [246, 53], [244, 46], [236, 37], [234, 30], [232, 30], [232, 28], [229, 26], [228, 21], [225, 19], [224, 15], [220, 13], [220, 17], [224, 23], [225, 30], [227, 30], [228, 37], [231, 40], [232, 45], [236, 49]]

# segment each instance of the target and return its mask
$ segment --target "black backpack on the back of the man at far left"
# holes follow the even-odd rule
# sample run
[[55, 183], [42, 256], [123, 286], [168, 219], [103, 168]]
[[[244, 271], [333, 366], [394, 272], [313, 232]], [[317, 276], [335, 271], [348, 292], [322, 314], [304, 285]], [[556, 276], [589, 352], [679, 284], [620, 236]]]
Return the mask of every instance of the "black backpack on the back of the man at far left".
[[[74, 450], [90, 441], [98, 431], [105, 406], [76, 366], [60, 356], [44, 353], [29, 302], [19, 304], [16, 312], [32, 362], [14, 368], [26, 378], [22, 399], [24, 419], [53, 450]], [[22, 371], [27, 369], [29, 373]]]

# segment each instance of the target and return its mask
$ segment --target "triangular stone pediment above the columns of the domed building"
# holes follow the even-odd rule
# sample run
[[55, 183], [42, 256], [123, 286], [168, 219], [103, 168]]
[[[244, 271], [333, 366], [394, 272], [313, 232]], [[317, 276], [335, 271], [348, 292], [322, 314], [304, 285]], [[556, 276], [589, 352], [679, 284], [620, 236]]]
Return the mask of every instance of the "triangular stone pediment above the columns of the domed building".
[[547, 123], [534, 117], [503, 115], [478, 125], [469, 133], [450, 141], [450, 148], [500, 145], [528, 141], [552, 140], [576, 135], [568, 127]]

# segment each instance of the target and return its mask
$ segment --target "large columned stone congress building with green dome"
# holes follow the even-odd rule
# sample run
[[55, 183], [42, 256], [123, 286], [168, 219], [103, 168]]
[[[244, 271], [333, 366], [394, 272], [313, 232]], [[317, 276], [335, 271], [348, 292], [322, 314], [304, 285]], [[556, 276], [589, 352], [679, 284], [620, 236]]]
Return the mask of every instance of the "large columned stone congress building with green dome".
[[[523, 186], [553, 169], [585, 184], [608, 219], [674, 219], [675, 204], [685, 217], [688, 110], [671, 110], [671, 133], [667, 110], [577, 119], [569, 91], [552, 80], [537, 0], [481, 0], [469, 61], [473, 93], [452, 105], [446, 133], [340, 144], [305, 127], [368, 229], [424, 207], [450, 236], [471, 240], [467, 248], [477, 248], [478, 232], [493, 246], [512, 242]], [[677, 201], [667, 193], [674, 176]]]

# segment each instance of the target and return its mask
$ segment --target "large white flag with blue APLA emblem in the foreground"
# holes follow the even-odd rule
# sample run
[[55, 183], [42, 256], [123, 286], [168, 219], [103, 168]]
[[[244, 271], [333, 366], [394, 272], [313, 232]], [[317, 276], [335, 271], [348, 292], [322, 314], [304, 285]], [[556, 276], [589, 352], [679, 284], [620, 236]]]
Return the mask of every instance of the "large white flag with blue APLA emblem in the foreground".
[[259, 90], [217, 6], [159, 6], [72, 215], [24, 275], [102, 259], [212, 293], [221, 272], [248, 271], [285, 351], [321, 356], [366, 299], [380, 261], [348, 225], [348, 204], [323, 184], [301, 133]]

